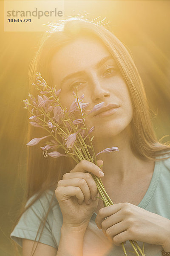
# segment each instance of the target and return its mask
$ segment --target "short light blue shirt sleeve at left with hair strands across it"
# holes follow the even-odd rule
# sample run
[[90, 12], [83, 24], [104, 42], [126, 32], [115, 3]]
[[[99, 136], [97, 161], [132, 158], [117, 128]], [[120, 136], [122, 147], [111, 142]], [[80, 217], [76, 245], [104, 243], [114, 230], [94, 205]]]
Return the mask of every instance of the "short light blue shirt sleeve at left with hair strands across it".
[[[30, 200], [28, 200], [27, 204], [30, 202]], [[48, 207], [49, 201], [47, 200], [46, 196], [43, 196], [39, 198], [37, 201], [35, 201], [34, 204], [32, 204], [31, 207], [29, 207], [23, 213], [17, 225], [14, 227], [14, 230], [12, 231], [10, 238], [14, 240], [17, 244], [19, 244], [20, 247], [22, 247], [22, 239], [38, 241], [40, 238], [40, 243], [48, 244], [57, 249], [57, 246], [54, 242], [51, 233], [49, 218], [47, 218], [47, 220], [45, 221], [45, 226], [42, 231], [43, 224], [41, 223], [45, 217]], [[40, 236], [41, 231], [42, 234]]]

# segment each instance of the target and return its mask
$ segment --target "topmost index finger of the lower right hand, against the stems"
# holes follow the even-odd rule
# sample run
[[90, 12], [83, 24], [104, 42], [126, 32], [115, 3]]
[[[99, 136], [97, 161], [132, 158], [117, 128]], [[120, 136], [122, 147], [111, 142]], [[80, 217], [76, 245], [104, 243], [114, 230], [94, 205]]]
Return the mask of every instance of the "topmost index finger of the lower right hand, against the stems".
[[[119, 210], [122, 208], [122, 203], [120, 204], [113, 204], [104, 208], [99, 209], [99, 213], [96, 216], [96, 224], [99, 229], [102, 228], [102, 221], [104, 221], [105, 218], [115, 214], [116, 212], [119, 212]], [[119, 214], [120, 215], [120, 214]]]

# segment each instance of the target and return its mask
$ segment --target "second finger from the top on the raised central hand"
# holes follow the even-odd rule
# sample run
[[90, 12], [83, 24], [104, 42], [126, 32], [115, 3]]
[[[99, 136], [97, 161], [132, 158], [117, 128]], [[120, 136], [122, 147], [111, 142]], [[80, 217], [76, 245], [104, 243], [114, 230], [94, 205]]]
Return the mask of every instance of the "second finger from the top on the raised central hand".
[[[83, 172], [72, 172], [72, 173], [70, 172], [70, 173], [66, 173], [65, 175], [63, 175], [62, 180], [73, 179], [73, 178], [84, 179], [88, 185], [88, 188], [90, 189], [91, 199], [96, 201], [97, 186], [96, 186], [96, 183], [95, 183], [93, 177], [91, 176], [91, 174], [83, 173]], [[80, 183], [78, 184], [78, 186], [80, 187]]]

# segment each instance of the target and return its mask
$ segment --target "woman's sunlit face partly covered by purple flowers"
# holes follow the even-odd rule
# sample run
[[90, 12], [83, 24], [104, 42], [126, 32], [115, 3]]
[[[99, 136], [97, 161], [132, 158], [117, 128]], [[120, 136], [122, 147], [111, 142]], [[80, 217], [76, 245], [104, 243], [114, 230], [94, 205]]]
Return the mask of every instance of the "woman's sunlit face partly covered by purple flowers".
[[133, 108], [127, 86], [112, 55], [100, 41], [82, 37], [63, 46], [51, 60], [51, 74], [56, 89], [61, 88], [59, 99], [67, 109], [74, 101], [75, 85], [79, 98], [84, 94], [83, 102], [90, 102], [87, 109], [100, 102], [104, 102], [102, 107], [115, 104], [116, 108], [113, 105], [107, 112], [86, 117], [88, 128], [95, 127], [93, 135], [97, 138], [116, 136], [130, 124]]

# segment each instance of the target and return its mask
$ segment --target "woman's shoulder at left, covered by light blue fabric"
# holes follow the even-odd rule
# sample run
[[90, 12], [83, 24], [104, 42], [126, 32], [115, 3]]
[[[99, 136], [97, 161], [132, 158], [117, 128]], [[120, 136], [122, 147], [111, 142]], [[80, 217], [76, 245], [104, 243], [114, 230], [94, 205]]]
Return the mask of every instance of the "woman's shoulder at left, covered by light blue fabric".
[[12, 240], [22, 246], [22, 239], [33, 241], [40, 239], [41, 243], [57, 248], [53, 236], [53, 222], [54, 215], [57, 214], [58, 202], [54, 195], [53, 191], [46, 190], [40, 197], [35, 194], [28, 199], [25, 212], [10, 235]]

